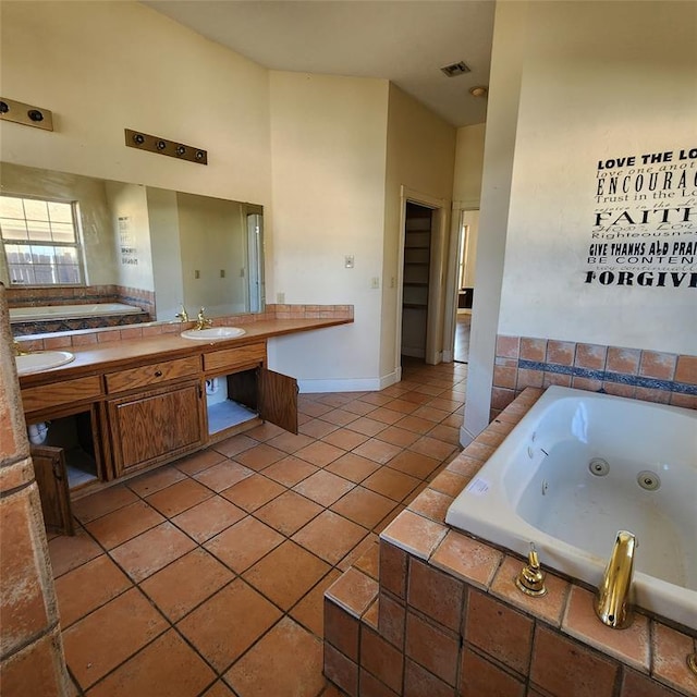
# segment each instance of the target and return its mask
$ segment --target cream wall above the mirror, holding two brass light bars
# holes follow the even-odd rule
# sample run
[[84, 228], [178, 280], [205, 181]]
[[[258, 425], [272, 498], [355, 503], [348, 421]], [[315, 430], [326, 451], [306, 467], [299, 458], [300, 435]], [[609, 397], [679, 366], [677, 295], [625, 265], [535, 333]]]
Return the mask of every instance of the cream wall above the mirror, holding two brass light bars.
[[[131, 1], [3, 2], [3, 96], [53, 132], [0, 123], [0, 160], [268, 206], [268, 71]], [[138, 129], [208, 166], [124, 145]]]

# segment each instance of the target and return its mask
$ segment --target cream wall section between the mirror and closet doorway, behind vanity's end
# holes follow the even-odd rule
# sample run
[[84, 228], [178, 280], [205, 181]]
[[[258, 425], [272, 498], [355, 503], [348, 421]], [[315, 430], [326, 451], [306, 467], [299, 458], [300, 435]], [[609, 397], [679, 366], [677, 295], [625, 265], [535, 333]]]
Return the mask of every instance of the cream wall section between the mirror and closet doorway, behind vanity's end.
[[271, 73], [267, 301], [353, 304], [355, 315], [351, 326], [271, 343], [271, 365], [306, 391], [376, 386], [381, 308], [370, 279], [382, 272], [387, 105], [386, 81]]

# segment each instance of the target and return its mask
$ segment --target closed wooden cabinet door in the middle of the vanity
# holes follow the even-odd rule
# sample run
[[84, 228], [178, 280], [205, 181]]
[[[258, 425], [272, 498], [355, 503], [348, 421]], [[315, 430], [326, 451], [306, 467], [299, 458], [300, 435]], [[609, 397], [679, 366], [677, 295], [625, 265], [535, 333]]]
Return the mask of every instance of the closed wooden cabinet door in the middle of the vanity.
[[203, 390], [198, 380], [108, 403], [118, 475], [173, 460], [203, 444]]

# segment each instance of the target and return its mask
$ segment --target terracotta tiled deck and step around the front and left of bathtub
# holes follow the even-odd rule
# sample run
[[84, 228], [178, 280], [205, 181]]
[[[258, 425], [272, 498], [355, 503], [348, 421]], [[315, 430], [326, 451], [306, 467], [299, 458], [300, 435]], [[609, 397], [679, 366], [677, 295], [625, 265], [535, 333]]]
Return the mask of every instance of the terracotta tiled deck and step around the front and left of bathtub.
[[[697, 627], [637, 612], [602, 625], [594, 592], [547, 573], [548, 595], [514, 585], [523, 560], [444, 524], [445, 512], [541, 390], [528, 389], [438, 474], [325, 597], [325, 672], [352, 697], [697, 695], [686, 658]], [[541, 560], [545, 564], [545, 560]]]

